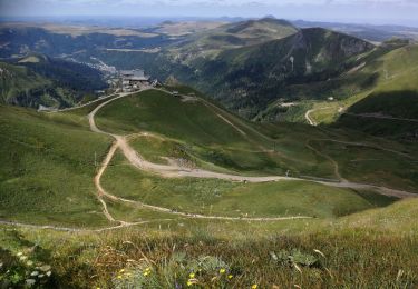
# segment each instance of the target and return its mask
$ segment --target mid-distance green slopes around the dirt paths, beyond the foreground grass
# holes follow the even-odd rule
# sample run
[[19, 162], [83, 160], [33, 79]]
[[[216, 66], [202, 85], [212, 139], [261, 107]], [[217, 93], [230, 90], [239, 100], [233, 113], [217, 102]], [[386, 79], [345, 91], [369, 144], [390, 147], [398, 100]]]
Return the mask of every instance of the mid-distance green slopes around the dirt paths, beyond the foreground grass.
[[[100, 163], [110, 142], [107, 137], [88, 131], [86, 119], [98, 103], [65, 113], [1, 107], [4, 140], [1, 144], [3, 155], [8, 156], [2, 162], [2, 218], [77, 226], [97, 226], [105, 221], [95, 200], [93, 178], [97, 171], [96, 166]], [[409, 191], [418, 187], [411, 159], [416, 151], [408, 147], [390, 141], [377, 144], [372, 138], [363, 139], [362, 144], [349, 146], [353, 136], [328, 134], [300, 124], [257, 126], [198, 97], [182, 99], [159, 90], [145, 91], [104, 107], [97, 123], [103, 130], [130, 136], [129, 143], [138, 153], [162, 165], [171, 159], [191, 168], [223, 173], [289, 175], [308, 179], [342, 176], [357, 182]], [[333, 142], [336, 136], [341, 143]], [[301, 138], [308, 142], [298, 141]], [[400, 153], [410, 153], [410, 157]], [[391, 160], [392, 156], [396, 160]], [[120, 155], [110, 162], [104, 176], [106, 190], [191, 213], [330, 218], [388, 203], [375, 202], [378, 198], [363, 190], [337, 189], [309, 181], [252, 185], [215, 179], [172, 180], [137, 171], [126, 161]], [[402, 173], [398, 173], [400, 170]], [[158, 218], [158, 213], [147, 210], [129, 217], [120, 205], [110, 201], [108, 206], [120, 219]], [[85, 213], [88, 218], [81, 217]]]

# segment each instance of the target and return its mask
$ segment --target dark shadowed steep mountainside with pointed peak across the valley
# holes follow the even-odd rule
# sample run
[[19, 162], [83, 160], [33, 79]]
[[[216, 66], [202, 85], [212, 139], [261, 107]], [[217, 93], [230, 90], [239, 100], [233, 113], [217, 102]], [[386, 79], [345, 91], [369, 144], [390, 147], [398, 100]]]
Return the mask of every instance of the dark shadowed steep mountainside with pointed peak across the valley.
[[372, 48], [346, 34], [302, 29], [284, 39], [227, 50], [202, 61], [192, 81], [230, 108], [262, 108], [289, 86], [338, 76], [350, 68], [350, 59]]

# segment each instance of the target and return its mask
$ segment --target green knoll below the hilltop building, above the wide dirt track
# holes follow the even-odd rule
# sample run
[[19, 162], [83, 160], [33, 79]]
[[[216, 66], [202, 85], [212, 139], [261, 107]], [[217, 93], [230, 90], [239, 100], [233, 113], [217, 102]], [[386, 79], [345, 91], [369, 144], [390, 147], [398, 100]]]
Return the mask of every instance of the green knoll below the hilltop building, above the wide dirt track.
[[145, 91], [109, 103], [96, 121], [109, 132], [130, 134], [146, 159], [186, 170], [348, 179], [407, 191], [418, 186], [411, 147], [298, 123], [251, 123], [196, 97]]

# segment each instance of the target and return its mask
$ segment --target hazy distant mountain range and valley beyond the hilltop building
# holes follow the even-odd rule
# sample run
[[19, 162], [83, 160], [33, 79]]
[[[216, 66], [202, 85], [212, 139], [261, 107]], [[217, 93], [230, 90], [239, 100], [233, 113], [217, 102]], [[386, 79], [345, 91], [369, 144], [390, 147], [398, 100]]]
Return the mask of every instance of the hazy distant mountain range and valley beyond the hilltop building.
[[[70, 88], [71, 91], [103, 88], [97, 71], [85, 73], [74, 61], [101, 61], [117, 69], [143, 68], [161, 81], [169, 78], [191, 84], [245, 118], [303, 121], [301, 116], [311, 106], [310, 101], [322, 101], [324, 107], [328, 99], [341, 102], [340, 107], [333, 104], [332, 119], [336, 119], [341, 107], [347, 110], [376, 91], [390, 92], [391, 87], [385, 83], [402, 83], [401, 74], [406, 76], [404, 79], [411, 78], [408, 73], [415, 69], [412, 38], [416, 32], [414, 28], [395, 26], [289, 22], [269, 17], [165, 21], [145, 29], [2, 23], [0, 56], [9, 66], [25, 66], [36, 73], [37, 80], [32, 83], [42, 83], [41, 87], [51, 78], [55, 86], [60, 83], [58, 87], [74, 83], [66, 81], [72, 73], [39, 63], [16, 62], [35, 52], [55, 59], [55, 66], [80, 69], [84, 72], [76, 82], [82, 88]], [[402, 53], [410, 61], [388, 77], [391, 67], [387, 63], [397, 63]], [[389, 56], [396, 59], [389, 61]], [[58, 59], [64, 62], [59, 63]], [[84, 76], [87, 81], [81, 81]], [[22, 73], [25, 78], [27, 73]], [[397, 86], [398, 90], [416, 91], [418, 84], [412, 82]], [[8, 91], [3, 92], [7, 101], [22, 98], [10, 89], [4, 91]], [[42, 102], [39, 92], [29, 91], [25, 96], [31, 99], [29, 96], [33, 94], [35, 101], [16, 102], [25, 106]], [[70, 106], [79, 98], [52, 97], [59, 106]], [[283, 107], [283, 102], [292, 104]]]

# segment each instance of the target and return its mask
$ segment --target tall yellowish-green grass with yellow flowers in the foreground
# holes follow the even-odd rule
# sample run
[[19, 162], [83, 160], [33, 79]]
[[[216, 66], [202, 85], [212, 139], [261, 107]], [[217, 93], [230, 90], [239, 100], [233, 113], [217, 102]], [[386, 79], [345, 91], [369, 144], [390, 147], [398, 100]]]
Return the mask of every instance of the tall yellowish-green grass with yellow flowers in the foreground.
[[[18, 251], [28, 255], [30, 260], [52, 265], [55, 287], [64, 288], [111, 287], [118, 282], [118, 275], [124, 282], [134, 280], [119, 273], [121, 268], [128, 272], [138, 270], [142, 276], [146, 267], [152, 268], [150, 277], [138, 278], [137, 282], [145, 280], [149, 288], [185, 286], [188, 275], [196, 270], [192, 261], [202, 256], [216, 257], [223, 262], [196, 275], [206, 287], [250, 288], [256, 283], [261, 288], [273, 285], [415, 288], [418, 228], [412, 216], [417, 208], [416, 200], [406, 200], [333, 222], [303, 220], [237, 226], [236, 222], [182, 220], [100, 235], [2, 230], [0, 255], [7, 268], [12, 260], [19, 263]], [[38, 249], [32, 251], [35, 241]], [[274, 262], [270, 252], [279, 253], [283, 249], [314, 256], [320, 259], [320, 266], [299, 266], [299, 272], [293, 266]], [[233, 278], [226, 281], [220, 268], [227, 268]]]

